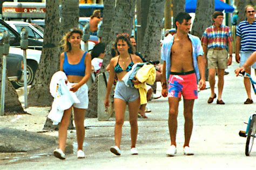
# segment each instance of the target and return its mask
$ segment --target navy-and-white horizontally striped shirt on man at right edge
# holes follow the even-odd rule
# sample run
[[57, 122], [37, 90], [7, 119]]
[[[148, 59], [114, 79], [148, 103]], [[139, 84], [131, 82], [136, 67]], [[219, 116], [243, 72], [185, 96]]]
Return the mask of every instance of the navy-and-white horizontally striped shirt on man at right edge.
[[241, 37], [241, 51], [256, 51], [256, 20], [252, 24], [247, 20], [237, 26], [237, 36]]

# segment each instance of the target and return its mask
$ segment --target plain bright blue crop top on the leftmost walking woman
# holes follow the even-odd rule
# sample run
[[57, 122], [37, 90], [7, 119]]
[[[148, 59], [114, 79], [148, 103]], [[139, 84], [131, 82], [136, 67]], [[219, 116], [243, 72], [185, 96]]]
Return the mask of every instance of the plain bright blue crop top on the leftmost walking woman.
[[68, 56], [66, 52], [64, 52], [64, 62], [63, 62], [63, 71], [66, 75], [78, 75], [84, 76], [85, 75], [85, 64], [84, 58], [87, 52], [84, 53], [82, 59], [76, 65], [71, 65], [68, 60]]

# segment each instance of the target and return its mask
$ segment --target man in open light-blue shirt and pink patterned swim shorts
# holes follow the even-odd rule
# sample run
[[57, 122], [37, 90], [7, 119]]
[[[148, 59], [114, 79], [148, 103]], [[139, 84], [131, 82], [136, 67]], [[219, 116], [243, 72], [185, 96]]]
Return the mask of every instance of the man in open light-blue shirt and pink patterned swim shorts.
[[164, 61], [162, 95], [168, 97], [169, 101], [168, 124], [171, 137], [171, 146], [166, 154], [170, 157], [177, 153], [177, 116], [181, 94], [184, 98], [184, 154], [194, 154], [189, 144], [193, 129], [193, 105], [194, 100], [198, 98], [197, 84], [200, 90], [205, 89], [203, 47], [198, 37], [188, 34], [191, 16], [186, 12], [180, 12], [175, 24], [177, 34], [169, 41], [165, 41], [161, 49], [161, 59]]

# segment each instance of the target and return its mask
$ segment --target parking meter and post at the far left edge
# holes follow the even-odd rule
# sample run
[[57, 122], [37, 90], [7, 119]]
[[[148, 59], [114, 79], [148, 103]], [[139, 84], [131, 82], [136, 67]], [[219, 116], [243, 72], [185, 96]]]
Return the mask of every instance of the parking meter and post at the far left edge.
[[4, 116], [4, 98], [5, 98], [5, 77], [6, 77], [6, 58], [3, 56], [4, 43], [3, 32], [0, 32], [0, 58], [2, 59], [2, 88], [1, 88], [1, 113], [0, 116]]

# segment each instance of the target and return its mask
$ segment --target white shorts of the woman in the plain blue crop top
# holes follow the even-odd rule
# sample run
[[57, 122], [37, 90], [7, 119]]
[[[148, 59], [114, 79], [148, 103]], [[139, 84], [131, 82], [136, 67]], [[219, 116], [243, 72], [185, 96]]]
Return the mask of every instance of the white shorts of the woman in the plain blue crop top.
[[[68, 83], [68, 87], [71, 88], [73, 84], [77, 83]], [[79, 109], [88, 109], [88, 87], [86, 84], [83, 84], [76, 92], [75, 92], [78, 100], [80, 103], [74, 103], [73, 107], [74, 108], [79, 108]]]

